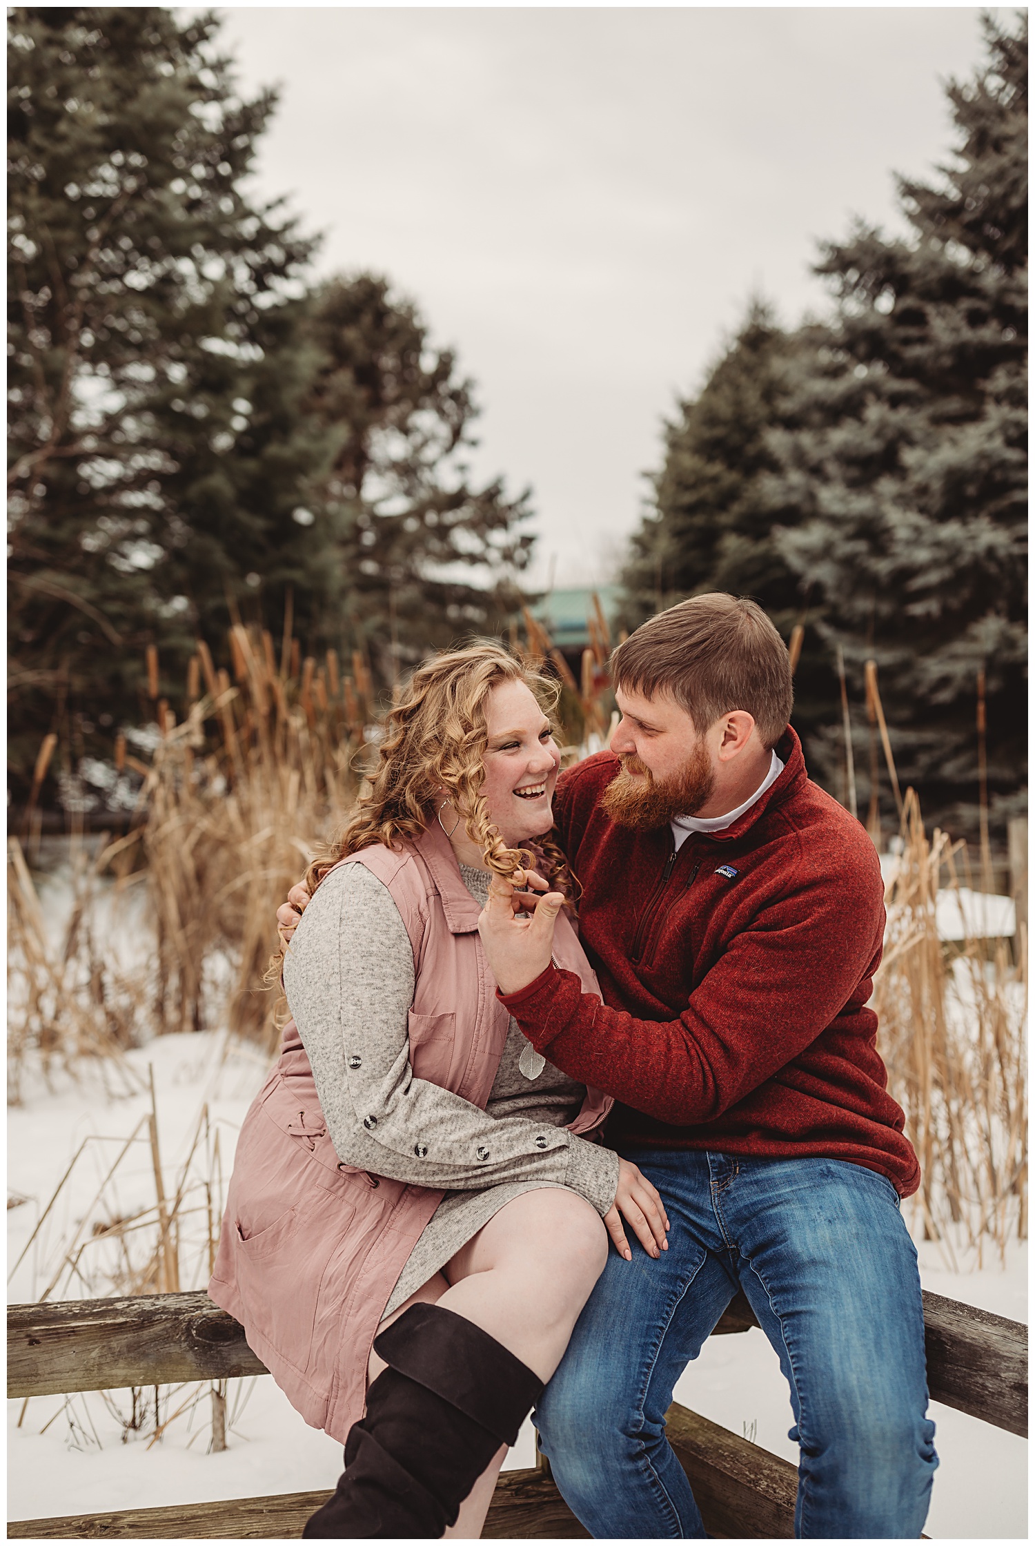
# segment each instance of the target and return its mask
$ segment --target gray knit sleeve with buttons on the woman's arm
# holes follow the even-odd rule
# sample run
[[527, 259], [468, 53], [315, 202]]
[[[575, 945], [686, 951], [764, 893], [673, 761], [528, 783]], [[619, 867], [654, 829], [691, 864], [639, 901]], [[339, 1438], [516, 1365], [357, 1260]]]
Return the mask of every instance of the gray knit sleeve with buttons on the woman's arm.
[[493, 1118], [409, 1065], [409, 935], [363, 864], [335, 870], [306, 908], [284, 957], [284, 989], [338, 1160], [445, 1190], [553, 1181], [599, 1214], [618, 1156], [564, 1127]]

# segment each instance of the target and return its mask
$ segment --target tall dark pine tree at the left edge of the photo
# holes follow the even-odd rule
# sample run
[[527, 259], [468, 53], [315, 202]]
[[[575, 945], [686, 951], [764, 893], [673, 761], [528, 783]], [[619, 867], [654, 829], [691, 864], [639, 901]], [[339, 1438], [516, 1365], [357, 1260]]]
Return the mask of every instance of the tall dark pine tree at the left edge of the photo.
[[[273, 96], [216, 22], [9, 14], [11, 767], [179, 697], [198, 632], [260, 577], [320, 574], [292, 521], [332, 438], [306, 407], [312, 241], [241, 181]], [[171, 673], [171, 674], [170, 674]], [[110, 744], [110, 731], [104, 745]]]

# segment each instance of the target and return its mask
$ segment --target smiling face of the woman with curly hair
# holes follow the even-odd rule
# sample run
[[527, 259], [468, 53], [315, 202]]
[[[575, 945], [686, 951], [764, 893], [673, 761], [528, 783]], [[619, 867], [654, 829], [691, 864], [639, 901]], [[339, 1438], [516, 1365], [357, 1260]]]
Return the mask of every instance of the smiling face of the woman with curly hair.
[[499, 682], [485, 703], [482, 793], [508, 847], [553, 826], [553, 787], [561, 753], [550, 720], [524, 682]]

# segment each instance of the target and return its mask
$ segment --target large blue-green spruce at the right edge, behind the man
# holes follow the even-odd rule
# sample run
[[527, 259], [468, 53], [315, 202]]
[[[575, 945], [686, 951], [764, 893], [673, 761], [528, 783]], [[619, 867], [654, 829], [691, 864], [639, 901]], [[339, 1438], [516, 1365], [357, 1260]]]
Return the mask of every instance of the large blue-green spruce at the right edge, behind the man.
[[879, 663], [901, 784], [962, 832], [982, 668], [993, 822], [1024, 782], [1026, 22], [987, 20], [986, 37], [987, 66], [948, 88], [956, 161], [938, 186], [899, 179], [913, 235], [857, 226], [826, 244], [837, 317], [797, 357], [763, 479], [779, 552], [820, 595], [859, 696]]

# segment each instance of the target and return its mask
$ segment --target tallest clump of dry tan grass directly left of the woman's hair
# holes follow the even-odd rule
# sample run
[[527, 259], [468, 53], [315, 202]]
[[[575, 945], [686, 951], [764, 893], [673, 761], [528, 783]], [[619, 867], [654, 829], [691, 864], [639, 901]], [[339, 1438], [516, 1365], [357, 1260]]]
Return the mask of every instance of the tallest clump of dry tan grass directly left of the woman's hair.
[[230, 1030], [273, 1045], [263, 971], [273, 914], [314, 846], [332, 836], [355, 799], [377, 739], [366, 662], [340, 673], [334, 651], [280, 663], [267, 632], [230, 631], [233, 676], [204, 645], [181, 725], [159, 705], [162, 741], [142, 788], [141, 832], [156, 926], [153, 1020]]

